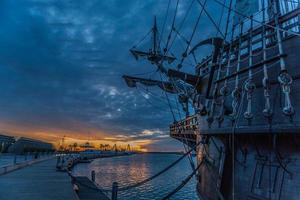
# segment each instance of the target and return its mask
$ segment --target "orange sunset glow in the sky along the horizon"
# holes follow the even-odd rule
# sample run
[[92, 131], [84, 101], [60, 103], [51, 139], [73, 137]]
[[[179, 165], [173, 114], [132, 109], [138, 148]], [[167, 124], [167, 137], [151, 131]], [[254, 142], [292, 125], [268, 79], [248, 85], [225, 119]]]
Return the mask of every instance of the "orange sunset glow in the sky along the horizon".
[[148, 150], [147, 145], [153, 143], [153, 141], [149, 139], [130, 140], [128, 136], [121, 134], [114, 134], [112, 136], [99, 130], [89, 130], [83, 133], [80, 131], [65, 131], [55, 128], [41, 129], [30, 126], [20, 126], [8, 122], [0, 122], [0, 133], [15, 137], [39, 139], [52, 143], [56, 148], [62, 144], [62, 138], [64, 138], [65, 146], [74, 143], [82, 145], [89, 142], [95, 148], [99, 148], [100, 144], [109, 144], [111, 146], [116, 144], [119, 147], [125, 148], [129, 144], [132, 149], [144, 152]]

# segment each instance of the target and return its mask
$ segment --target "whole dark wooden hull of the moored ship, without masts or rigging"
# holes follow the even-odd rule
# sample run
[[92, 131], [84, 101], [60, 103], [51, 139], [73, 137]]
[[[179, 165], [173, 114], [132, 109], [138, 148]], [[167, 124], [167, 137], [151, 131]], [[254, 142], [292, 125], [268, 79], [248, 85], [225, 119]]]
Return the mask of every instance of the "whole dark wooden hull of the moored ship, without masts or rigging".
[[[289, 29], [296, 27], [299, 32], [299, 9], [282, 16], [280, 23], [291, 19], [297, 20]], [[261, 35], [262, 28], [253, 32]], [[247, 34], [242, 36], [245, 38], [242, 40], [247, 40]], [[214, 101], [214, 108], [211, 109], [210, 105], [210, 108], [206, 108], [207, 113], [198, 112], [170, 125], [171, 137], [190, 147], [200, 143], [196, 152], [198, 163], [203, 163], [197, 176], [201, 200], [300, 199], [300, 37], [282, 34], [282, 47], [284, 53], [279, 52], [278, 42], [270, 42], [265, 50], [253, 50], [252, 66], [249, 66], [249, 52], [246, 53], [240, 58], [239, 70], [238, 60], [233, 59], [229, 72], [223, 70], [219, 76], [214, 75], [212, 85], [219, 91], [227, 81], [230, 92], [223, 96], [218, 92], [217, 97], [211, 100]], [[249, 49], [249, 44], [245, 48]], [[283, 73], [281, 58], [286, 64], [286, 72], [292, 77], [288, 90], [291, 113], [283, 112], [289, 104], [283, 86], [278, 81], [278, 76]], [[270, 82], [270, 115], [264, 112], [264, 64], [268, 68]], [[198, 72], [201, 67], [198, 67]], [[251, 94], [250, 119], [245, 116], [249, 99], [247, 91], [243, 89], [249, 69], [252, 69], [255, 85]], [[231, 92], [235, 89], [237, 76], [241, 89], [237, 117], [233, 119], [234, 97]], [[220, 117], [220, 113], [223, 116]]]

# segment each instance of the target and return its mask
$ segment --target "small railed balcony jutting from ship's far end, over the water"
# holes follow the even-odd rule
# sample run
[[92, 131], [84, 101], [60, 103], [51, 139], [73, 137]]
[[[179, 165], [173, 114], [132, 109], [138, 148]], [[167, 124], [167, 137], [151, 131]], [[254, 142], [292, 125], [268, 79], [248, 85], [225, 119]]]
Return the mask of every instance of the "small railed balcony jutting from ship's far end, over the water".
[[195, 131], [198, 127], [197, 116], [193, 115], [170, 125], [170, 134], [180, 134]]

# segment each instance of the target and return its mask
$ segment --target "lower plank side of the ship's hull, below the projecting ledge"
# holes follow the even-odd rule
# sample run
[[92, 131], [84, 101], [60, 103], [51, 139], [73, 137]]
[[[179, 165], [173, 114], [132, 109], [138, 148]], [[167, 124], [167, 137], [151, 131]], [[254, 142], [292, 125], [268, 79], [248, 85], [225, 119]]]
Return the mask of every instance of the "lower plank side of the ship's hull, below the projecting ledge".
[[298, 135], [238, 135], [234, 143], [231, 139], [210, 136], [198, 149], [198, 161], [204, 160], [197, 186], [202, 200], [300, 199]]

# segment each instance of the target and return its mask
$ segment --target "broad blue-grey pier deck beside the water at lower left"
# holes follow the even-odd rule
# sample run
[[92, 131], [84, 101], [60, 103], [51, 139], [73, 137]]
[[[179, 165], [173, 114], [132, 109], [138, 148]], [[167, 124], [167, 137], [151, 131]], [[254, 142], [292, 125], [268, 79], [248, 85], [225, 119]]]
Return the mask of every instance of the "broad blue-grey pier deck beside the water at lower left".
[[55, 165], [51, 159], [0, 176], [0, 199], [77, 200], [71, 178]]

